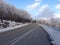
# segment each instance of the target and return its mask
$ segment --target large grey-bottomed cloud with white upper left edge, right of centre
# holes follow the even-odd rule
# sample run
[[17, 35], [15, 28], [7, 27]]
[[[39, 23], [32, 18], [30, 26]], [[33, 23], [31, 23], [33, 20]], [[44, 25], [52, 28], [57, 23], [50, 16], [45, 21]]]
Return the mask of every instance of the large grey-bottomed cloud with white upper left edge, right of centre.
[[51, 18], [54, 13], [50, 10], [49, 5], [45, 4], [40, 7], [38, 18]]

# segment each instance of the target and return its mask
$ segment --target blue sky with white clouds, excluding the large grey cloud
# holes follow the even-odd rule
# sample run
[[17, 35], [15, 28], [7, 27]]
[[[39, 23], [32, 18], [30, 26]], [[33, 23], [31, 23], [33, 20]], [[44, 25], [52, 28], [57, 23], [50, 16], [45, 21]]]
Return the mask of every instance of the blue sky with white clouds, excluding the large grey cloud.
[[[5, 0], [19, 9], [28, 11], [34, 18], [48, 7], [55, 17], [60, 17], [60, 0]], [[47, 10], [48, 10], [47, 9]]]

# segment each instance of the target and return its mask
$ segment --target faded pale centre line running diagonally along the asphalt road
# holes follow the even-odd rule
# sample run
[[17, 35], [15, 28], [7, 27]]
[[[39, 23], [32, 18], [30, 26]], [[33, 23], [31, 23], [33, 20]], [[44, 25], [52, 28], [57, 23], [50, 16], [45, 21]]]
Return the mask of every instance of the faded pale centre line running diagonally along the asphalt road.
[[[39, 26], [39, 25], [38, 25]], [[27, 33], [23, 34], [22, 36], [19, 36], [17, 38], [15, 38], [14, 40], [6, 43], [5, 45], [14, 45], [15, 43], [17, 43], [18, 41], [22, 40], [25, 36], [27, 36], [29, 33], [31, 33], [34, 29], [36, 29], [38, 26], [34, 27], [32, 30], [28, 31]]]

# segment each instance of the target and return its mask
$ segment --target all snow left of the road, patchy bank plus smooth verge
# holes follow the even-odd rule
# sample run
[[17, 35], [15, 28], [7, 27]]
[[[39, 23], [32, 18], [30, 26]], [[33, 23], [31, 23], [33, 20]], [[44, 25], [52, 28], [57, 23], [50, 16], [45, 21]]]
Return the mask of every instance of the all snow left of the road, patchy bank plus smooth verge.
[[[5, 22], [9, 23], [6, 28], [3, 27]], [[0, 20], [0, 32], [5, 32], [5, 31], [8, 31], [8, 30], [13, 30], [13, 29], [20, 28], [20, 27], [23, 27], [23, 26], [26, 26], [26, 25], [29, 25], [29, 24], [30, 23], [23, 24], [23, 23], [11, 21], [11, 20], [3, 20], [3, 23], [2, 23], [1, 20]]]

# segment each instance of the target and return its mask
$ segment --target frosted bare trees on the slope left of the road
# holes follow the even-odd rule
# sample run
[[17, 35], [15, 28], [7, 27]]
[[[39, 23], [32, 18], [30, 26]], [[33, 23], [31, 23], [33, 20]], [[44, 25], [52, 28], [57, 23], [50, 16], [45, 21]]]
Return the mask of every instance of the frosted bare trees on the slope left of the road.
[[0, 19], [17, 22], [30, 22], [32, 20], [27, 11], [18, 9], [4, 1], [0, 1]]

